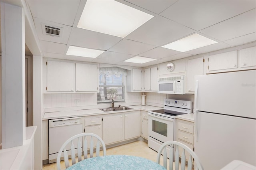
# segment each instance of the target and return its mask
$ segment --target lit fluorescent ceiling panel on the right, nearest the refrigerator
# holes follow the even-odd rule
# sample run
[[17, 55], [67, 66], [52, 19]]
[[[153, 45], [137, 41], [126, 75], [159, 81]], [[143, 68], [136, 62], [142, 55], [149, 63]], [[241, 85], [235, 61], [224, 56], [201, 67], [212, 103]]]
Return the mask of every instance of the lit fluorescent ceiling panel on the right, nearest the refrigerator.
[[200, 47], [211, 45], [214, 43], [218, 43], [218, 42], [211, 40], [209, 38], [206, 38], [204, 36], [201, 36], [199, 34], [192, 34], [191, 36], [182, 38], [176, 42], [169, 43], [162, 47], [185, 52], [185, 51], [190, 51], [192, 49], [197, 49]]

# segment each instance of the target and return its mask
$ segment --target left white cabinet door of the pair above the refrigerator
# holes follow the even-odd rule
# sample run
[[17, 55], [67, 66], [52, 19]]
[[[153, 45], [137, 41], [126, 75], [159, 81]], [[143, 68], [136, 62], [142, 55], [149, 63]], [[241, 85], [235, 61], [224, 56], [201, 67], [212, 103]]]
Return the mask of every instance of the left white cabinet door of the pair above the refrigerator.
[[236, 69], [238, 68], [238, 51], [210, 55], [207, 58], [207, 64], [207, 73]]

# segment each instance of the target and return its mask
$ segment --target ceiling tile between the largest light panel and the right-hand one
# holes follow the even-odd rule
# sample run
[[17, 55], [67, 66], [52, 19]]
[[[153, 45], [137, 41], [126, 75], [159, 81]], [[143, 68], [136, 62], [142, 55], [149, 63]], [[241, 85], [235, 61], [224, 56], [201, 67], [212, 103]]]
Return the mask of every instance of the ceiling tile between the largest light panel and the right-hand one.
[[162, 16], [155, 16], [126, 36], [126, 39], [162, 46], [192, 34], [193, 32], [194, 30]]

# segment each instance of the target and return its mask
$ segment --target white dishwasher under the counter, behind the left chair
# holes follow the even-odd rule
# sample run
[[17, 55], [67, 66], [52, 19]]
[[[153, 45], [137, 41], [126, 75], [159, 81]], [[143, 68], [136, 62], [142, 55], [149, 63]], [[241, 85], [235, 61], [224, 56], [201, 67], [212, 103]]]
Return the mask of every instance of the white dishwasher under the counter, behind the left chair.
[[[49, 163], [56, 162], [60, 147], [68, 138], [83, 132], [81, 118], [72, 117], [49, 120]], [[70, 150], [70, 146], [68, 150]]]

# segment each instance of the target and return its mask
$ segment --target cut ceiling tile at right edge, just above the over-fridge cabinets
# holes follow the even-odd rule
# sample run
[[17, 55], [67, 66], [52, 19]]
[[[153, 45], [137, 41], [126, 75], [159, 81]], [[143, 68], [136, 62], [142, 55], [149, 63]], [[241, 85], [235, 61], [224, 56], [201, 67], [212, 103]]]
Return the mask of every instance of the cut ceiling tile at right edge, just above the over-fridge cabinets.
[[241, 45], [241, 44], [253, 42], [253, 41], [256, 41], [256, 32], [254, 32], [252, 34], [247, 34], [245, 36], [233, 38], [231, 40], [224, 41], [224, 43], [235, 46], [235, 45]]

